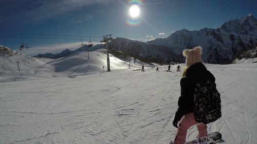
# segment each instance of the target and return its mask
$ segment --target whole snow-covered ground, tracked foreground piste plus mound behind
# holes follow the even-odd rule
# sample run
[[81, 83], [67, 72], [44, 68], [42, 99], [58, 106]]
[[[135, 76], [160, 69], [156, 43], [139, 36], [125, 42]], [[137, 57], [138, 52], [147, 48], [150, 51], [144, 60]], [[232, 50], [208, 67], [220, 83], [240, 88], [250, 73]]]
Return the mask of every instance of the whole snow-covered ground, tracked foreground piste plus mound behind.
[[[164, 71], [167, 65], [158, 66], [159, 72], [148, 66], [141, 72], [141, 64], [127, 69], [128, 63], [112, 57], [111, 72], [106, 72], [104, 52], [90, 55], [87, 60], [82, 52], [26, 69], [24, 64], [20, 76], [11, 67], [0, 68], [0, 143], [157, 144], [174, 139], [177, 65], [172, 72]], [[221, 132], [221, 143], [256, 143], [257, 63], [205, 66], [222, 98], [222, 118], [208, 124], [208, 132]], [[187, 140], [196, 136], [194, 126]]]

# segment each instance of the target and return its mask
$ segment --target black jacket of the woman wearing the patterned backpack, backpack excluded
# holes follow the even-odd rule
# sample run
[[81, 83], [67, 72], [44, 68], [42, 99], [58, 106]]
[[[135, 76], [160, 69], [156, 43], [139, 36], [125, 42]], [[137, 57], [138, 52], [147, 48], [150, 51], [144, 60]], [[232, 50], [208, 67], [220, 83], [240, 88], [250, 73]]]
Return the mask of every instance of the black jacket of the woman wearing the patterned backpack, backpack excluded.
[[215, 83], [215, 77], [203, 63], [196, 63], [187, 69], [185, 76], [180, 80], [181, 96], [178, 98], [178, 109], [174, 119], [179, 121], [183, 115], [194, 112], [195, 85], [208, 79]]

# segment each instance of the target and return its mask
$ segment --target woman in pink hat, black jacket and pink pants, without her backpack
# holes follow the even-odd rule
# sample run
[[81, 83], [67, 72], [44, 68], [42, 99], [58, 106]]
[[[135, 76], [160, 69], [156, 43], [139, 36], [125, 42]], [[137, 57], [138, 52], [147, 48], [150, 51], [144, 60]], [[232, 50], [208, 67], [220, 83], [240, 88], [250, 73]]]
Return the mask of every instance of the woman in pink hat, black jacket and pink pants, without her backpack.
[[186, 67], [180, 80], [181, 96], [178, 98], [178, 109], [173, 120], [173, 126], [178, 128], [178, 131], [174, 142], [170, 143], [185, 143], [187, 130], [193, 125], [198, 129], [198, 139], [203, 140], [199, 143], [206, 143], [207, 125], [196, 122], [194, 118], [194, 90], [197, 82], [210, 80], [215, 83], [215, 77], [201, 63], [201, 47], [183, 50], [183, 55], [186, 57]]

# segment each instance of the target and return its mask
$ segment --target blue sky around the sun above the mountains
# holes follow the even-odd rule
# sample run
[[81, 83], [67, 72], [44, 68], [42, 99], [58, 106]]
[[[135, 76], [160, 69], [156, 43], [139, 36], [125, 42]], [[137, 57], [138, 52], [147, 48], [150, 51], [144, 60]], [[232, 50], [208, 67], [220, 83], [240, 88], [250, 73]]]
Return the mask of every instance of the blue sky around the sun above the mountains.
[[[126, 23], [130, 1], [125, 0], [1, 0], [0, 45], [16, 49], [21, 40], [30, 47], [60, 43], [87, 43], [88, 37], [69, 39], [35, 38], [38, 34], [91, 36], [99, 42], [106, 34], [146, 42], [168, 37], [181, 29], [218, 28], [230, 19], [252, 13], [257, 1], [222, 0], [142, 0], [140, 24]], [[31, 34], [23, 38], [10, 37]], [[9, 35], [9, 37], [7, 36]], [[32, 38], [34, 37], [34, 38]], [[43, 36], [41, 36], [43, 37]], [[49, 36], [45, 36], [49, 37]], [[60, 36], [51, 36], [60, 37]]]

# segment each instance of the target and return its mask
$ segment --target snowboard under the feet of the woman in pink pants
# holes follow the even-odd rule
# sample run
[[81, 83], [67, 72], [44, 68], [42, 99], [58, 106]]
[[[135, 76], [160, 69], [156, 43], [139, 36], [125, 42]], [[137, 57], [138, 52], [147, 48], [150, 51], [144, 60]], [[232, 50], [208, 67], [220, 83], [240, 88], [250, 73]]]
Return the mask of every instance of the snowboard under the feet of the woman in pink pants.
[[[212, 132], [208, 134], [207, 138], [207, 144], [215, 144], [222, 140], [222, 134], [219, 132]], [[196, 144], [198, 142], [198, 139], [194, 139], [191, 141], [187, 141], [184, 144]], [[174, 142], [171, 141], [170, 144], [173, 144]]]

